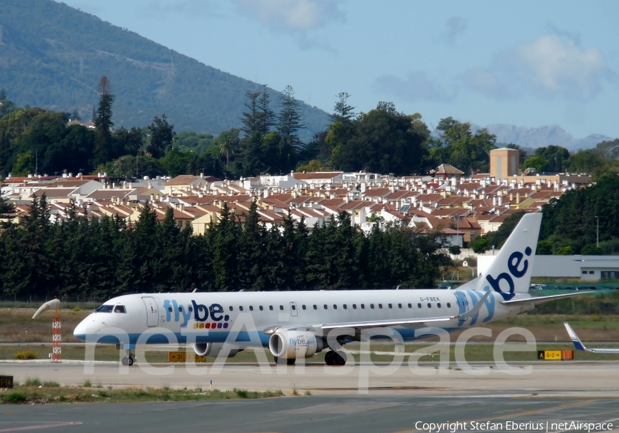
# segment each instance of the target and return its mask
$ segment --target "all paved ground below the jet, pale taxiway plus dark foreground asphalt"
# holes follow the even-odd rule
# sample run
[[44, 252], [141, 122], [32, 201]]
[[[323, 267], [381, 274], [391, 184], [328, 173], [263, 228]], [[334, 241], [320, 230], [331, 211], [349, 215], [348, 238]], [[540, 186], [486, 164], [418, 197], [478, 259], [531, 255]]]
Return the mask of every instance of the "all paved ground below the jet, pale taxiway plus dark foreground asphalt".
[[[619, 362], [511, 363], [509, 373], [488, 363], [438, 363], [354, 368], [226, 364], [167, 375], [137, 366], [96, 364], [0, 364], [0, 374], [24, 381], [38, 377], [68, 386], [88, 379], [103, 386], [171, 386], [221, 390], [283, 390], [288, 397], [186, 403], [96, 403], [0, 406], [0, 433], [49, 432], [430, 432], [430, 423], [453, 423], [453, 432], [560, 432], [569, 423], [612, 423], [591, 431], [619, 432]], [[526, 368], [531, 366], [531, 370]], [[154, 366], [162, 373], [169, 364]], [[484, 370], [486, 367], [488, 370]], [[345, 370], [345, 368], [348, 368]], [[382, 368], [382, 370], [379, 370]], [[514, 375], [517, 370], [521, 375]], [[198, 374], [196, 374], [198, 373]], [[481, 373], [481, 375], [479, 374]], [[292, 396], [292, 388], [310, 397]], [[96, 392], [96, 390], [94, 390]], [[428, 428], [424, 428], [424, 423]], [[517, 423], [523, 423], [518, 425]], [[528, 424], [527, 424], [528, 423]], [[556, 428], [552, 425], [556, 424]], [[601, 425], [601, 424], [600, 424]], [[515, 426], [515, 427], [514, 427]], [[540, 427], [541, 426], [541, 427]], [[456, 426], [457, 427], [457, 426]], [[538, 428], [540, 427], [540, 428]], [[574, 430], [574, 429], [572, 429]], [[579, 431], [587, 431], [579, 430]]]

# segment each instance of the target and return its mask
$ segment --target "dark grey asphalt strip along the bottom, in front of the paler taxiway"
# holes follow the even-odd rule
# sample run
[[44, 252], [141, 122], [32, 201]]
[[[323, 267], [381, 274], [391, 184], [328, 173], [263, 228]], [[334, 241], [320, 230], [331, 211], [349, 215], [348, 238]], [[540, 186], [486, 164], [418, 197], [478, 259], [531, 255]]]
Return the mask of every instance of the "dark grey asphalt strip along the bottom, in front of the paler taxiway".
[[499, 394], [0, 406], [0, 432], [429, 432], [424, 423], [450, 422], [460, 423], [453, 429], [458, 432], [558, 432], [567, 430], [559, 423], [571, 421], [614, 427], [618, 403]]

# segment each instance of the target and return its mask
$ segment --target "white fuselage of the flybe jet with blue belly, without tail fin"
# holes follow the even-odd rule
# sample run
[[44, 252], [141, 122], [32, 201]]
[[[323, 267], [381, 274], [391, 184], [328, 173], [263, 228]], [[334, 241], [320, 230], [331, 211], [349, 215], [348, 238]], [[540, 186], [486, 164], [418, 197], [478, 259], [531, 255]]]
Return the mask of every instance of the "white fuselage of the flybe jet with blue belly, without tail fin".
[[[416, 331], [428, 326], [460, 331], [530, 309], [507, 307], [499, 302], [503, 300], [499, 293], [491, 292], [477, 315], [466, 320], [455, 317], [472, 309], [483, 295], [483, 291], [437, 289], [142, 293], [105, 302], [102, 309], [109, 312], [92, 313], [76, 326], [74, 335], [125, 346], [167, 343], [172, 334], [180, 343], [226, 342], [235, 324], [243, 322], [235, 342], [266, 347], [270, 335], [265, 331], [280, 326], [318, 329], [316, 335], [325, 337], [326, 331], [320, 333], [324, 324], [454, 316], [431, 325], [389, 326], [408, 341], [426, 337]], [[140, 340], [144, 333], [150, 336]], [[255, 334], [251, 338], [248, 333]]]

